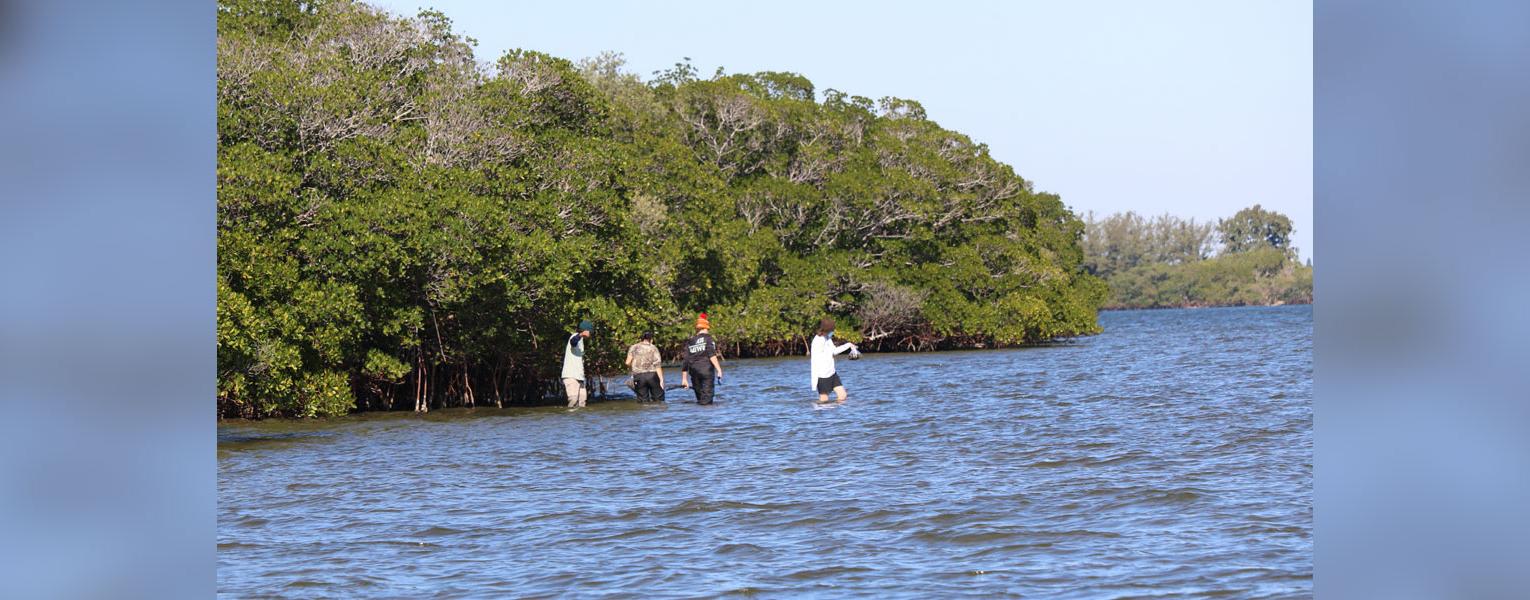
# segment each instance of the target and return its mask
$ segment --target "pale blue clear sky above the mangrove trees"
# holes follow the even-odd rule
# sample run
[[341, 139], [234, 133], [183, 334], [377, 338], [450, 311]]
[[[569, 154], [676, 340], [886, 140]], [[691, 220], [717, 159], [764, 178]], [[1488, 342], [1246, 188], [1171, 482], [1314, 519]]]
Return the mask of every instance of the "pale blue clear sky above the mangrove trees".
[[372, 2], [436, 8], [479, 60], [621, 52], [644, 78], [793, 70], [924, 104], [1080, 214], [1261, 204], [1313, 256], [1310, 2]]

